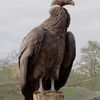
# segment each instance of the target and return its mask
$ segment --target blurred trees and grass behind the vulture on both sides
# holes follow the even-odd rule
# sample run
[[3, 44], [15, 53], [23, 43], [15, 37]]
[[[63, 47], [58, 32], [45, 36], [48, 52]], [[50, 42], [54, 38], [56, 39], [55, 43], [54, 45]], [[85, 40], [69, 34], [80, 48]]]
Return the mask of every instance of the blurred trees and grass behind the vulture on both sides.
[[[69, 80], [61, 89], [65, 100], [100, 100], [100, 44], [88, 41], [81, 49]], [[17, 53], [0, 60], [0, 100], [22, 100]]]

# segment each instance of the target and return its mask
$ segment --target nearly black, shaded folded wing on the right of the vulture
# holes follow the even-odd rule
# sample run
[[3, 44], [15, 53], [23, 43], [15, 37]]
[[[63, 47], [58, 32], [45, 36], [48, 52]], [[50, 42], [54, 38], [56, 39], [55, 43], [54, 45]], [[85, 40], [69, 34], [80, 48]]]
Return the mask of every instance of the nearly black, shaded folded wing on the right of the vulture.
[[75, 38], [73, 33], [67, 32], [65, 37], [64, 59], [60, 67], [59, 79], [55, 82], [55, 89], [59, 90], [63, 87], [69, 77], [73, 61], [76, 55]]

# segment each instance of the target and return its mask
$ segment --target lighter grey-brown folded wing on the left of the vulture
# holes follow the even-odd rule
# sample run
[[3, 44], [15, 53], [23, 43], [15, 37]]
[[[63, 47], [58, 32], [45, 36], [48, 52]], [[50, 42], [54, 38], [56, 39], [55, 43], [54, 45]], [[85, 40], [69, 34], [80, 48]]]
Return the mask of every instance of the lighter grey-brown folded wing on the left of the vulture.
[[35, 62], [41, 44], [44, 39], [43, 29], [37, 27], [33, 29], [22, 41], [20, 47], [20, 55], [19, 55], [19, 67], [20, 67], [20, 77], [21, 77], [21, 85], [24, 86], [27, 81], [27, 75], [30, 74], [31, 66]]

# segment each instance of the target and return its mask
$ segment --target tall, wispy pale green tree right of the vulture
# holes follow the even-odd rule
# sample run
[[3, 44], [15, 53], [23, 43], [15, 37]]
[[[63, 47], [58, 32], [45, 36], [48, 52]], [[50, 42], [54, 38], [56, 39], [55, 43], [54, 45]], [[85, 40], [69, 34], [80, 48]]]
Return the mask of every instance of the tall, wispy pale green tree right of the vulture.
[[94, 78], [100, 70], [100, 44], [88, 41], [88, 45], [81, 49], [80, 71]]

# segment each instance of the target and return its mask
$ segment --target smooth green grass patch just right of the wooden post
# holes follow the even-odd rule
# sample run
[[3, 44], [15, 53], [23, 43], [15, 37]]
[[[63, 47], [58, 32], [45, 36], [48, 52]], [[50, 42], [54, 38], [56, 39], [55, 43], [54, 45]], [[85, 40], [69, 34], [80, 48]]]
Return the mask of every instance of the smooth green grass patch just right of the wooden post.
[[90, 91], [82, 87], [67, 87], [62, 89], [65, 100], [87, 100]]

